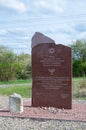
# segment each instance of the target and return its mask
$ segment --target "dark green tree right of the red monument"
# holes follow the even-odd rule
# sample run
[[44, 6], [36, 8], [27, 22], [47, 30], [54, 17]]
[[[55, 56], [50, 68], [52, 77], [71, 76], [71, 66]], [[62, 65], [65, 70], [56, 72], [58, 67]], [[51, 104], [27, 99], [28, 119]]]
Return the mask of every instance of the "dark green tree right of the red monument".
[[86, 40], [77, 40], [71, 44], [73, 57], [73, 76], [86, 75]]

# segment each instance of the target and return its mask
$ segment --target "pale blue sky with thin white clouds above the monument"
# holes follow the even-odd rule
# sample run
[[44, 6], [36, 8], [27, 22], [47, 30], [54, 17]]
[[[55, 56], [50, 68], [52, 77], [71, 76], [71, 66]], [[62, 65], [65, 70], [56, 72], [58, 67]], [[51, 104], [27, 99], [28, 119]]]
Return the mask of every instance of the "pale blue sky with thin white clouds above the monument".
[[0, 45], [31, 53], [35, 32], [64, 45], [86, 39], [86, 0], [0, 0]]

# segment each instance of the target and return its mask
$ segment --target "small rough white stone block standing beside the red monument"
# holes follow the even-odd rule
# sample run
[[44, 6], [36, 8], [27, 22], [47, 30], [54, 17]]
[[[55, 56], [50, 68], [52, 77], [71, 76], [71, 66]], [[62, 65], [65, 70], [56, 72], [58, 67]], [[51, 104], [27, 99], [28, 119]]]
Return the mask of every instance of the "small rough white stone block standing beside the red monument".
[[14, 93], [9, 97], [9, 108], [11, 113], [23, 112], [23, 99], [21, 95]]

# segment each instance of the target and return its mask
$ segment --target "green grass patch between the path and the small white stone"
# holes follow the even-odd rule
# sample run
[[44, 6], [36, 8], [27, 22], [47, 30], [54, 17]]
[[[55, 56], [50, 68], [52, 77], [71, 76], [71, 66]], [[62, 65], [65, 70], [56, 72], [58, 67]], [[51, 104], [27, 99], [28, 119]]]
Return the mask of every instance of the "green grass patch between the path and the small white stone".
[[9, 96], [13, 93], [20, 94], [22, 97], [31, 98], [31, 86], [14, 86], [7, 88], [0, 88], [0, 94]]

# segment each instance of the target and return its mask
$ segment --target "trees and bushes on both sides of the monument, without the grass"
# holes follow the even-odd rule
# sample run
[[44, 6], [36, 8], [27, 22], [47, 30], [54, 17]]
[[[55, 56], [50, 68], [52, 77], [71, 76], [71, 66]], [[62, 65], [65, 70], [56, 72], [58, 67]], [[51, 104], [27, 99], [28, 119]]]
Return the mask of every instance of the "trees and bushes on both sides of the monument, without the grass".
[[[86, 76], [86, 40], [71, 43], [73, 77]], [[32, 77], [31, 56], [16, 54], [0, 46], [0, 81], [29, 79]]]

